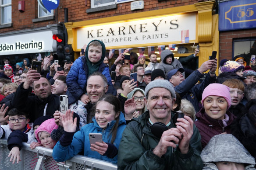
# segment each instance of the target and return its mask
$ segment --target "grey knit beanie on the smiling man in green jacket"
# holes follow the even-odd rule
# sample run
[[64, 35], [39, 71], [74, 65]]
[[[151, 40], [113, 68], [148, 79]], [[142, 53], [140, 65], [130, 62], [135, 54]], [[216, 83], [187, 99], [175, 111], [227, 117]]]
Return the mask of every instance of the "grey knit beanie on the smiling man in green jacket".
[[160, 79], [151, 81], [146, 86], [146, 89], [145, 89], [146, 98], [148, 97], [149, 90], [156, 88], [156, 87], [161, 87], [161, 88], [165, 88], [165, 89], [169, 90], [171, 93], [171, 97], [176, 98], [175, 90], [174, 90], [174, 87], [171, 84], [171, 82], [167, 81], [167, 80], [160, 80]]

